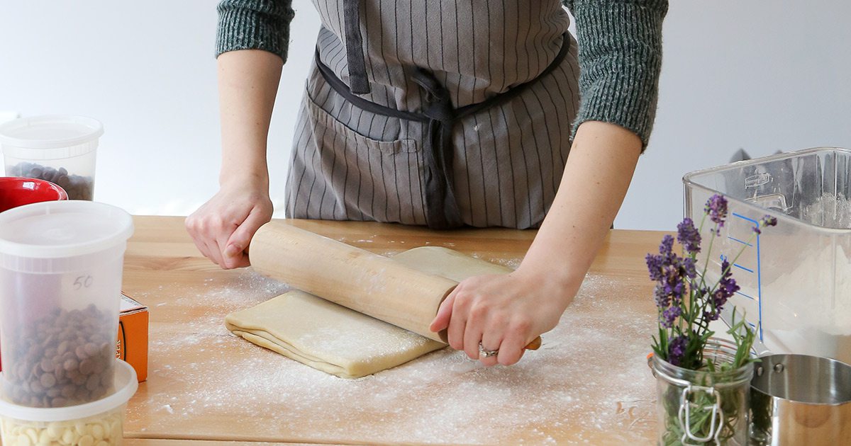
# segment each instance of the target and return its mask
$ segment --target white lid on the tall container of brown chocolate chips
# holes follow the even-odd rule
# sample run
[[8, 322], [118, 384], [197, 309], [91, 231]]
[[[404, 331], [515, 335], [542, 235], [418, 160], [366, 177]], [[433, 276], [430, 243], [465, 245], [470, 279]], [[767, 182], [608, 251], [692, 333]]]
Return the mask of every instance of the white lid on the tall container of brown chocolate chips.
[[94, 201], [43, 201], [0, 212], [0, 254], [6, 256], [83, 256], [126, 242], [132, 234], [129, 213]]

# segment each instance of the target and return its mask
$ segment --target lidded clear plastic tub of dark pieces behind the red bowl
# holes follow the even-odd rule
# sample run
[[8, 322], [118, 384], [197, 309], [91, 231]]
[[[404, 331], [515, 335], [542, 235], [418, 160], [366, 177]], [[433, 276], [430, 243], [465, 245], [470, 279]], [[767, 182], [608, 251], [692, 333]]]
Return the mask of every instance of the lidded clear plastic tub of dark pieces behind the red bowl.
[[6, 175], [59, 184], [71, 200], [94, 198], [100, 121], [83, 116], [32, 116], [0, 124]]

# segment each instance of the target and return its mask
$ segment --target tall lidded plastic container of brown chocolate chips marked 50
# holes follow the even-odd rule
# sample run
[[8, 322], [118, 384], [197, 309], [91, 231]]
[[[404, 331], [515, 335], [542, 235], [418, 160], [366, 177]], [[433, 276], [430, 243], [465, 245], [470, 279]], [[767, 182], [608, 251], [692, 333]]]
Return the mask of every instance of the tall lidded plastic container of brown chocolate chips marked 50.
[[0, 213], [3, 392], [62, 407], [102, 398], [112, 382], [127, 212], [46, 201]]

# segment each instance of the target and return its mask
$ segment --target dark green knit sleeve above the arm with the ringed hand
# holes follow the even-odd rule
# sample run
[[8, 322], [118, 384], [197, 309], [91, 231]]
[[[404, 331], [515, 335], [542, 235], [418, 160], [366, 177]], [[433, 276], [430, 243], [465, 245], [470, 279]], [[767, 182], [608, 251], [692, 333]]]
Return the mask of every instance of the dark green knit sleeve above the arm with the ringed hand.
[[647, 147], [662, 65], [667, 0], [565, 0], [579, 42], [580, 110], [585, 121], [611, 122], [636, 133]]

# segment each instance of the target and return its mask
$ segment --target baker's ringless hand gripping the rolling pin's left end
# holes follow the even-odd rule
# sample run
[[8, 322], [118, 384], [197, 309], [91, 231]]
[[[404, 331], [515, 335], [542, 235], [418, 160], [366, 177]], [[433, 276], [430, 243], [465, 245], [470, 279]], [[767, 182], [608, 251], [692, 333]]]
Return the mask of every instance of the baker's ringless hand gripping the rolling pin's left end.
[[222, 184], [219, 193], [186, 217], [186, 230], [201, 253], [224, 269], [248, 266], [248, 244], [271, 220], [268, 187]]

